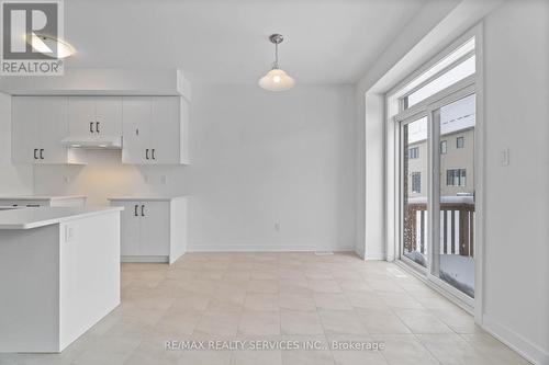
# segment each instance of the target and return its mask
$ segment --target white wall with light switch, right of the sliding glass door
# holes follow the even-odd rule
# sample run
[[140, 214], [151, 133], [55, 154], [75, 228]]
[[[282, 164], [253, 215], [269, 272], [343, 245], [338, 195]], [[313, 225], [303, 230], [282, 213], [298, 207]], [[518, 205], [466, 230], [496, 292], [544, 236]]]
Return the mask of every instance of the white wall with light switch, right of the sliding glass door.
[[507, 1], [484, 44], [484, 323], [549, 364], [549, 2]]

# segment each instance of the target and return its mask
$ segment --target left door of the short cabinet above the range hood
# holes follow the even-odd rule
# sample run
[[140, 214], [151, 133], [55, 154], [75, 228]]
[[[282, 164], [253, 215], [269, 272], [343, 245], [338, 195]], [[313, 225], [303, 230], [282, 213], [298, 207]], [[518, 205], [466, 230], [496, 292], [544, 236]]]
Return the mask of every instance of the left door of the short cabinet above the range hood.
[[96, 137], [96, 99], [93, 96], [69, 96], [68, 118], [70, 136]]

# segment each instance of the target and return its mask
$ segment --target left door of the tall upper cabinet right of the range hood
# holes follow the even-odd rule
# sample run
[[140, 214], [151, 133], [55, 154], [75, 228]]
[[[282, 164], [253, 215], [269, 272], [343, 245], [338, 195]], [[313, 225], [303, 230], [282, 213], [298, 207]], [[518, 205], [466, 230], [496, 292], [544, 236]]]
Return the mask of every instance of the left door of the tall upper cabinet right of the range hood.
[[149, 145], [150, 99], [127, 96], [123, 100], [123, 163], [146, 163]]

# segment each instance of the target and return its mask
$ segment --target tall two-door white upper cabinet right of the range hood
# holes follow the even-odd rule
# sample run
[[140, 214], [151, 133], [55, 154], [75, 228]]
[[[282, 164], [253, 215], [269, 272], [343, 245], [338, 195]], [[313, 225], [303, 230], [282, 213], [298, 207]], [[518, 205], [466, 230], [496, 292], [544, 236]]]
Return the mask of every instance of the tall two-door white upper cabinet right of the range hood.
[[188, 163], [188, 122], [181, 96], [124, 96], [122, 162]]

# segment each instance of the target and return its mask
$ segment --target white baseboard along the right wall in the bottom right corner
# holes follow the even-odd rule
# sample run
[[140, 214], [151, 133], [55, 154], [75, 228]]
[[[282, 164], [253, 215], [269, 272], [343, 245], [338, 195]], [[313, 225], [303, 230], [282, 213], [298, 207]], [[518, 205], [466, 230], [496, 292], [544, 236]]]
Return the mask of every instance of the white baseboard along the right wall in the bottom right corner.
[[508, 327], [497, 323], [486, 313], [482, 316], [482, 328], [530, 363], [549, 365], [549, 353], [547, 351], [531, 343], [531, 341], [528, 341]]

